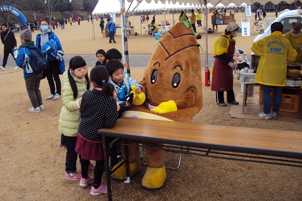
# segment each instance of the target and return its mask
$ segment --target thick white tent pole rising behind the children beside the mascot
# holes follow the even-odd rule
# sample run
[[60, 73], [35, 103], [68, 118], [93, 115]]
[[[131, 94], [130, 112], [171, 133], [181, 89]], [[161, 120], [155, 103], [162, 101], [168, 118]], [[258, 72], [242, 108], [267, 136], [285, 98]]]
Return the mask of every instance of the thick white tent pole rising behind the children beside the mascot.
[[122, 30], [122, 51], [123, 51], [123, 64], [126, 64], [127, 73], [130, 76], [129, 67], [129, 55], [128, 55], [128, 39], [127, 39], [127, 29], [126, 29], [126, 11], [125, 11], [125, 0], [120, 0], [121, 6], [121, 30]]

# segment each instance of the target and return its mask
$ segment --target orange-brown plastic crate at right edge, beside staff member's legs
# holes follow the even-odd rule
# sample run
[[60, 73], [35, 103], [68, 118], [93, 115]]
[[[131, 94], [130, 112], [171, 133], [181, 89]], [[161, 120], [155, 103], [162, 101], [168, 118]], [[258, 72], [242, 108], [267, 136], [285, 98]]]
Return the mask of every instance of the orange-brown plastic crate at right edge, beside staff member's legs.
[[282, 94], [282, 102], [279, 110], [297, 113], [301, 107], [301, 101], [301, 93], [298, 93], [297, 95]]

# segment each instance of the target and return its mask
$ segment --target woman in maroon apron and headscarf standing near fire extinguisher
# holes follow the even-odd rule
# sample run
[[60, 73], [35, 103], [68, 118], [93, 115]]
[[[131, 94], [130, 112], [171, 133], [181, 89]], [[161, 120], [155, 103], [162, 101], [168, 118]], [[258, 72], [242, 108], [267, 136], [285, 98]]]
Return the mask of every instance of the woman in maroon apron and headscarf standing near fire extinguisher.
[[216, 103], [219, 106], [226, 106], [224, 103], [223, 92], [226, 91], [226, 100], [228, 103], [237, 105], [233, 91], [233, 70], [236, 64], [233, 61], [235, 53], [235, 37], [238, 35], [239, 25], [229, 23], [222, 36], [214, 44], [214, 63], [211, 68], [212, 87], [216, 92]]

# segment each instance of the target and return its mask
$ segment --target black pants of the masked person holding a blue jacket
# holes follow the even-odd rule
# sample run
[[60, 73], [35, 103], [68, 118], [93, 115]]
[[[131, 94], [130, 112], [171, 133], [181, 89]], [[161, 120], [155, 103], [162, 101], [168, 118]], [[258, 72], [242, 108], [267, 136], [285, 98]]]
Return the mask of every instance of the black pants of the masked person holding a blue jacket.
[[[61, 95], [61, 80], [59, 77], [60, 69], [59, 69], [59, 62], [52, 61], [49, 62], [47, 69], [45, 70], [46, 78], [48, 81], [48, 85], [50, 88], [50, 93], [55, 95], [56, 93]], [[55, 86], [54, 86], [55, 82]], [[55, 91], [56, 87], [56, 91]]]

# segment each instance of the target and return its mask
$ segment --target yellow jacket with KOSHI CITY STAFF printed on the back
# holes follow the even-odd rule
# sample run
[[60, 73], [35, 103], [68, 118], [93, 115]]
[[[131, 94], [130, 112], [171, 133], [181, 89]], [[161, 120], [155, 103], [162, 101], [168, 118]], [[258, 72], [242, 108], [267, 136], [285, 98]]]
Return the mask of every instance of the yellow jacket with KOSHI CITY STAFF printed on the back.
[[275, 31], [270, 36], [253, 43], [252, 50], [261, 56], [255, 82], [270, 86], [286, 85], [287, 61], [293, 62], [297, 56], [282, 32]]

